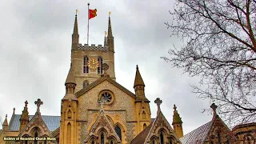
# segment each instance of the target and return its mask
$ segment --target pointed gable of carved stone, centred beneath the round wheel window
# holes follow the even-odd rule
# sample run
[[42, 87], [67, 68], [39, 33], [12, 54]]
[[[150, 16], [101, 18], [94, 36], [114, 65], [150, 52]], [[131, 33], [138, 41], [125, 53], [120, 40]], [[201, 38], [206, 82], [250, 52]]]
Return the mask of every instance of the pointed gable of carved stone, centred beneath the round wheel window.
[[102, 129], [105, 129], [110, 137], [114, 136], [114, 138], [116, 138], [118, 142], [121, 142], [118, 134], [114, 130], [114, 127], [112, 126], [109, 119], [106, 117], [104, 110], [100, 111], [98, 118], [94, 122], [94, 125], [91, 127], [90, 132], [86, 137], [86, 142], [88, 142], [91, 137], [98, 135], [98, 132], [100, 132], [100, 130]]

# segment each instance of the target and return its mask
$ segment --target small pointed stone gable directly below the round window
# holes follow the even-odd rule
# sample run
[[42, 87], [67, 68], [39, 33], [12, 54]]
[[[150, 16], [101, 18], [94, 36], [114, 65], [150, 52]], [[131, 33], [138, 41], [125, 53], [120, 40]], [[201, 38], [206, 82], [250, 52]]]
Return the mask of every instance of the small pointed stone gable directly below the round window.
[[104, 127], [104, 124], [102, 122], [104, 122], [105, 126], [110, 130], [110, 135], [114, 135], [114, 137], [117, 138], [117, 141], [121, 142], [120, 138], [118, 137], [118, 134], [114, 130], [113, 125], [110, 123], [109, 119], [106, 118], [106, 114], [104, 110], [100, 110], [100, 113], [98, 114], [98, 118], [94, 122], [94, 125], [91, 127], [90, 132], [86, 137], [86, 141], [89, 140], [90, 136], [97, 133], [97, 131], [95, 130], [97, 130], [100, 127]]

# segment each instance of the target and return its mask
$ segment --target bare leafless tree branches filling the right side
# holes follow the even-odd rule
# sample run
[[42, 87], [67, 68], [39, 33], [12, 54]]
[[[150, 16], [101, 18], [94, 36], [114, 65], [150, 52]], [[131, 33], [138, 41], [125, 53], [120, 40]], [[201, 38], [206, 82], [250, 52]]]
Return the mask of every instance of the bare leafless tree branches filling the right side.
[[171, 66], [190, 76], [199, 98], [218, 104], [229, 126], [256, 120], [256, 1], [176, 0], [171, 35], [185, 42], [170, 50]]

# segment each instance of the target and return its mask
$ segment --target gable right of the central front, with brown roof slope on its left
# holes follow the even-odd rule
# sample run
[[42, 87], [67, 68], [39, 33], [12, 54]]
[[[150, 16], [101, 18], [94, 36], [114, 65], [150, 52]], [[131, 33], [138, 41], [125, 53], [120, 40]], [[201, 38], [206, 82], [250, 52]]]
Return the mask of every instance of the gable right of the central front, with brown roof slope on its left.
[[138, 134], [130, 142], [130, 144], [146, 144], [146, 142], [150, 141], [151, 135], [154, 134], [155, 130], [159, 126], [165, 126], [170, 131], [170, 133], [173, 134], [174, 138], [176, 138], [177, 141], [179, 142], [179, 139], [177, 135], [174, 133], [173, 128], [170, 126], [170, 123], [166, 120], [165, 116], [162, 114], [162, 111], [160, 111], [157, 117], [154, 118], [154, 122], [151, 122], [150, 125], [146, 127], [146, 129], [142, 130], [142, 132]]

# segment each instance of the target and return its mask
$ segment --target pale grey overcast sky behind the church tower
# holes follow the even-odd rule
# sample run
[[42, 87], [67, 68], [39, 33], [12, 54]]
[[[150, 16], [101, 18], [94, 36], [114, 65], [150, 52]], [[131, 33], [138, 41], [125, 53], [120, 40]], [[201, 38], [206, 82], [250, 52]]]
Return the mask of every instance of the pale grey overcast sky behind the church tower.
[[115, 45], [115, 74], [117, 82], [134, 92], [136, 65], [146, 84], [151, 117], [155, 118], [155, 98], [162, 99], [162, 113], [172, 122], [176, 104], [182, 117], [184, 134], [211, 120], [202, 114], [209, 108], [191, 93], [190, 84], [198, 78], [171, 68], [160, 57], [168, 50], [182, 46], [178, 38], [170, 38], [164, 22], [171, 22], [169, 10], [174, 0], [36, 0], [0, 1], [0, 116], [8, 121], [15, 107], [22, 114], [24, 102], [29, 102], [34, 114], [34, 101], [44, 102], [41, 113], [60, 115], [64, 82], [70, 69], [71, 34], [75, 10], [78, 9], [80, 42], [86, 42], [87, 2], [97, 9], [98, 16], [90, 19], [90, 44], [102, 44], [107, 30], [108, 11]]

